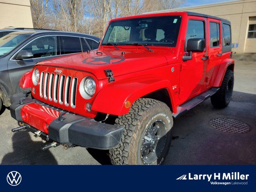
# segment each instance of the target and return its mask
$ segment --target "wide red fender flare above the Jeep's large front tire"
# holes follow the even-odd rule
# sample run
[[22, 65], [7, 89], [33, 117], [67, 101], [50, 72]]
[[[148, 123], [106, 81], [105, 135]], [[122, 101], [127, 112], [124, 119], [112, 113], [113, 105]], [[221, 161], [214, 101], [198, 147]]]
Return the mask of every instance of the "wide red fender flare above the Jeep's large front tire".
[[[92, 110], [120, 116], [130, 110], [130, 107], [126, 108], [124, 106], [126, 101], [130, 101], [130, 106], [132, 106], [133, 102], [138, 98], [163, 88], [167, 89], [170, 98], [173, 98], [173, 92], [168, 80], [144, 78], [115, 82], [100, 90], [92, 104]], [[170, 102], [172, 108], [174, 108], [173, 101], [171, 100]]]

